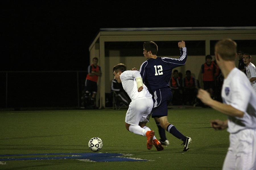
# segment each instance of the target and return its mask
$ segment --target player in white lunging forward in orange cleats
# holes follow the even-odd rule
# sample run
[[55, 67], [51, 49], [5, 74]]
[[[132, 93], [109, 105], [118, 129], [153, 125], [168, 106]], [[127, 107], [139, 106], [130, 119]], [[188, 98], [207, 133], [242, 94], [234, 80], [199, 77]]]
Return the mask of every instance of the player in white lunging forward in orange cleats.
[[120, 63], [113, 67], [113, 74], [117, 82], [122, 83], [123, 89], [131, 98], [125, 116], [126, 129], [137, 135], [146, 136], [148, 149], [154, 145], [156, 150], [163, 150], [164, 147], [154, 136], [155, 132], [146, 126], [153, 108], [153, 99], [142, 82], [140, 72], [126, 71], [126, 66]]

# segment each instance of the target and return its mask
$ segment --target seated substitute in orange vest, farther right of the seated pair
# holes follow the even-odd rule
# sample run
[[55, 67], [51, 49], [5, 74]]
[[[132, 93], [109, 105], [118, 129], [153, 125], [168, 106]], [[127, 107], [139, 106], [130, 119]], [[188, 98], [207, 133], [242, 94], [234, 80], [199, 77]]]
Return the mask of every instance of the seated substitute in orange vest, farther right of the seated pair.
[[184, 92], [183, 101], [186, 105], [193, 105], [196, 100], [197, 89], [195, 85], [195, 78], [191, 76], [191, 71], [186, 71], [186, 77], [183, 79]]

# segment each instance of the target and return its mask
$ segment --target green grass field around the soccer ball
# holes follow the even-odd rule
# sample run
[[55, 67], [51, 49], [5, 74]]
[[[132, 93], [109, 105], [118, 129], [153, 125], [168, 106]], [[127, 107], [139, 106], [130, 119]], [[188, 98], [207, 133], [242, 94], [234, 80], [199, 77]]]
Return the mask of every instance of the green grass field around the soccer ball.
[[[187, 152], [182, 141], [166, 133], [169, 146], [147, 150], [146, 137], [125, 129], [126, 110], [58, 110], [0, 112], [0, 159], [31, 158], [12, 154], [95, 153], [88, 141], [100, 137], [102, 153], [130, 154], [139, 162], [59, 160], [1, 160], [0, 169], [221, 169], [229, 145], [227, 131], [210, 128], [212, 119], [226, 116], [210, 108], [169, 109], [168, 120], [192, 138]], [[154, 120], [147, 124], [156, 132]], [[98, 152], [97, 152], [98, 153]], [[2, 156], [6, 155], [6, 156]], [[46, 157], [46, 156], [44, 156]]]

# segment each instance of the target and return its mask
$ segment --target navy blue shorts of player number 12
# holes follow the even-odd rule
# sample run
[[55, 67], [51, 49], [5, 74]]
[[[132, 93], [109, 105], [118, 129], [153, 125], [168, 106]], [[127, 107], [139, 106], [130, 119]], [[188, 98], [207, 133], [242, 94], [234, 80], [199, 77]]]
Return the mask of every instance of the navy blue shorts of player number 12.
[[162, 88], [154, 91], [154, 107], [152, 109], [152, 118], [167, 116], [168, 104], [172, 100], [172, 91], [170, 88]]

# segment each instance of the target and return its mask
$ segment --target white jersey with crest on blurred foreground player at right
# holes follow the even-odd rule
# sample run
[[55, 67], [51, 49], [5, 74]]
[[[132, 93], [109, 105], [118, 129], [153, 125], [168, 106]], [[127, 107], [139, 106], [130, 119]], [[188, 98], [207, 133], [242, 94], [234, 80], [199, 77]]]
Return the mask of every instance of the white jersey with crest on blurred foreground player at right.
[[228, 116], [228, 132], [236, 133], [243, 129], [256, 129], [256, 92], [248, 78], [234, 68], [224, 79], [221, 96], [223, 103], [244, 112], [242, 118]]

